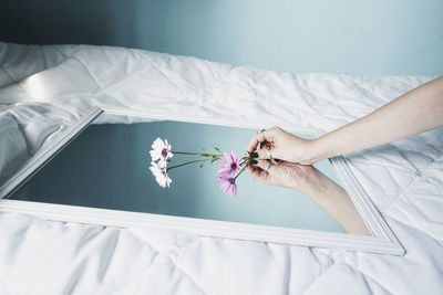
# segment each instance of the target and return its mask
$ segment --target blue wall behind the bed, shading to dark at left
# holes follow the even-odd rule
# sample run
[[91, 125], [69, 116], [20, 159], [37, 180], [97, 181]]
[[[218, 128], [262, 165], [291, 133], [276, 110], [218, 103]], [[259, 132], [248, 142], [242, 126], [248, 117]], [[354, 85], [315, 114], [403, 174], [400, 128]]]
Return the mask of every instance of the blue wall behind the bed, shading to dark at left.
[[3, 0], [0, 38], [293, 73], [443, 74], [441, 0]]

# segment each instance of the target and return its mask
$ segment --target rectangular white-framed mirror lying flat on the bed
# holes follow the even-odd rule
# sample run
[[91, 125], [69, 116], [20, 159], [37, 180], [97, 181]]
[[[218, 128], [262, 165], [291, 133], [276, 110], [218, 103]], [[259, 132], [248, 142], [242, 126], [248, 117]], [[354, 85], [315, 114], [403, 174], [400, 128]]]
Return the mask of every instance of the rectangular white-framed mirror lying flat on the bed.
[[[328, 182], [323, 187], [334, 192], [305, 194], [300, 185], [300, 190], [266, 186], [246, 168], [235, 180], [236, 196], [224, 192], [224, 180], [217, 178], [220, 151], [234, 151], [237, 165], [245, 161], [245, 148], [257, 129], [95, 108], [1, 183], [0, 210], [49, 220], [403, 253], [341, 157], [315, 167], [290, 167], [301, 177], [315, 169]], [[290, 131], [303, 138], [316, 136]], [[156, 178], [150, 169], [150, 150], [157, 138], [172, 146], [173, 156], [164, 161], [172, 182], [165, 188], [156, 181], [165, 178]], [[279, 172], [277, 166], [269, 166], [269, 173]], [[236, 167], [235, 175], [241, 168]], [[279, 179], [286, 179], [285, 173]]]

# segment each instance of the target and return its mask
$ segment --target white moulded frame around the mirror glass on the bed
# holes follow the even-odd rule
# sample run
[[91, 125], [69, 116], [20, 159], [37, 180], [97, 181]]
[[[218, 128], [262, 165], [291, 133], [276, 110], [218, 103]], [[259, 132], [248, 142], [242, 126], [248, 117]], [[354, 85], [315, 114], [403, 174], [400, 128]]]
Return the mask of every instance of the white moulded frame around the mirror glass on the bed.
[[[138, 213], [121, 210], [95, 209], [87, 207], [42, 203], [4, 199], [23, 181], [32, 177], [47, 161], [51, 160], [64, 146], [75, 138], [101, 114], [133, 116], [138, 118], [169, 119], [222, 126], [261, 129], [262, 126], [226, 124], [225, 122], [195, 120], [185, 117], [165, 117], [138, 113], [128, 109], [95, 107], [74, 123], [66, 131], [31, 157], [11, 178], [0, 186], [0, 212], [20, 212], [37, 215], [45, 220], [79, 222], [116, 228], [155, 228], [181, 231], [196, 235], [228, 238], [258, 242], [272, 242], [303, 246], [351, 250], [381, 254], [403, 255], [404, 250], [358, 182], [343, 157], [331, 158], [332, 166], [352, 199], [372, 236], [348, 233], [321, 232], [289, 229], [239, 222], [183, 218], [154, 213]], [[315, 135], [302, 129], [288, 129], [291, 133]]]

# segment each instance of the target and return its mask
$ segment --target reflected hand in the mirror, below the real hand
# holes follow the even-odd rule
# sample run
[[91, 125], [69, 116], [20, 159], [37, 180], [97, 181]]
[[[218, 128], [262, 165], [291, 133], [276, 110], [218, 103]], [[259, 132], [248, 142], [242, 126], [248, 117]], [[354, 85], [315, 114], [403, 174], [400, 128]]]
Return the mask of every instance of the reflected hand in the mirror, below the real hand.
[[[276, 160], [253, 160], [253, 162], [255, 161], [257, 164], [248, 165], [247, 170], [264, 185], [295, 189], [306, 194], [311, 192], [313, 186], [317, 185], [318, 176], [321, 173], [310, 165]], [[266, 171], [268, 164], [270, 164], [270, 167]]]

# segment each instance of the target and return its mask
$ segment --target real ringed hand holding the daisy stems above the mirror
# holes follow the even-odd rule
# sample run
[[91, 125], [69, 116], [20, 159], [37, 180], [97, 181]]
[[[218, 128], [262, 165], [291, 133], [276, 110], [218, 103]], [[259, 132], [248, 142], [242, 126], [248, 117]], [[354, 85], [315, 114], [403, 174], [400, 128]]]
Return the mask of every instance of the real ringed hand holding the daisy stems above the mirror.
[[272, 127], [255, 134], [246, 150], [249, 154], [256, 151], [259, 159], [267, 159], [267, 149], [270, 148], [274, 159], [311, 165], [315, 162], [313, 156], [311, 156], [312, 143], [312, 140], [291, 135], [280, 127]]

